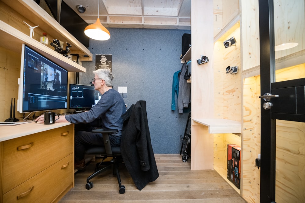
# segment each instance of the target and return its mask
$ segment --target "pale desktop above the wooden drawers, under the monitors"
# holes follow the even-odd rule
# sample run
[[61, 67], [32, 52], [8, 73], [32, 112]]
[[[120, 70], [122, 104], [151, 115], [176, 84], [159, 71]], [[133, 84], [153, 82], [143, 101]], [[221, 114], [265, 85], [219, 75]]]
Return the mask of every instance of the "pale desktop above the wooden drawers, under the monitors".
[[0, 126], [0, 142], [5, 140], [10, 140], [13, 138], [19, 138], [22, 136], [52, 130], [54, 128], [60, 128], [66, 125], [70, 125], [71, 123], [55, 123], [50, 125], [45, 125], [43, 123], [24, 123], [19, 125], [10, 125], [10, 126]]

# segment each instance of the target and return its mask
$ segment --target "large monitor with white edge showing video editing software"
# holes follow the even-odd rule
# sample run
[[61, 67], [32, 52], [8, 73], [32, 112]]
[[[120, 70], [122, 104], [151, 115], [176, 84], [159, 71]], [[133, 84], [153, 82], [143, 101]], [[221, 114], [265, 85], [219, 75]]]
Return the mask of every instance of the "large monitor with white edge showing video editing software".
[[20, 70], [20, 113], [67, 108], [68, 71], [25, 44]]

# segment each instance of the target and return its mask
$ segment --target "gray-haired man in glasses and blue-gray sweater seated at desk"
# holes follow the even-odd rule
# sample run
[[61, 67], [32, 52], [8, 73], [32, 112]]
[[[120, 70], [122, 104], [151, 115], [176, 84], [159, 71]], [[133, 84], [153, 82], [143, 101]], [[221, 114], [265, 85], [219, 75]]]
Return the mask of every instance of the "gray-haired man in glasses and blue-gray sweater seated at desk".
[[[108, 69], [97, 69], [92, 79], [94, 89], [98, 90], [102, 97], [90, 110], [79, 114], [67, 114], [59, 116], [55, 122], [70, 122], [75, 125], [74, 138], [74, 169], [83, 170], [86, 165], [84, 161], [85, 149], [89, 146], [103, 146], [104, 141], [101, 133], [92, 133], [96, 128], [117, 129], [115, 133], [109, 134], [111, 146], [120, 146], [123, 119], [121, 115], [126, 112], [125, 102], [116, 90], [112, 88], [113, 75]], [[42, 114], [36, 120], [37, 123], [44, 122]], [[85, 124], [85, 125], [84, 125]]]

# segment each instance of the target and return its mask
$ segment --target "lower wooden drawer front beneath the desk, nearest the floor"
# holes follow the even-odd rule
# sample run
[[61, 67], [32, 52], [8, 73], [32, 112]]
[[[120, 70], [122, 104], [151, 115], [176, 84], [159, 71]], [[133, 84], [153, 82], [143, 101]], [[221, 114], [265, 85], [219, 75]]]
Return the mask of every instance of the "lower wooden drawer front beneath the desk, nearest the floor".
[[[3, 202], [53, 202], [73, 185], [73, 154], [3, 195]], [[22, 173], [23, 174], [23, 173]], [[10, 184], [10, 182], [8, 182]]]

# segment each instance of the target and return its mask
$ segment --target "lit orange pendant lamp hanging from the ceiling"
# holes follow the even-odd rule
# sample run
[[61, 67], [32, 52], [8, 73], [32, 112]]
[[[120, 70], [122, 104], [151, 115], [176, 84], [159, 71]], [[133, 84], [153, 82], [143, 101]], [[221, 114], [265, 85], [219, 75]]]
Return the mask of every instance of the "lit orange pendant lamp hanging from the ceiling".
[[110, 33], [99, 21], [99, 7], [98, 17], [95, 23], [88, 25], [84, 30], [85, 35], [94, 40], [109, 40]]

